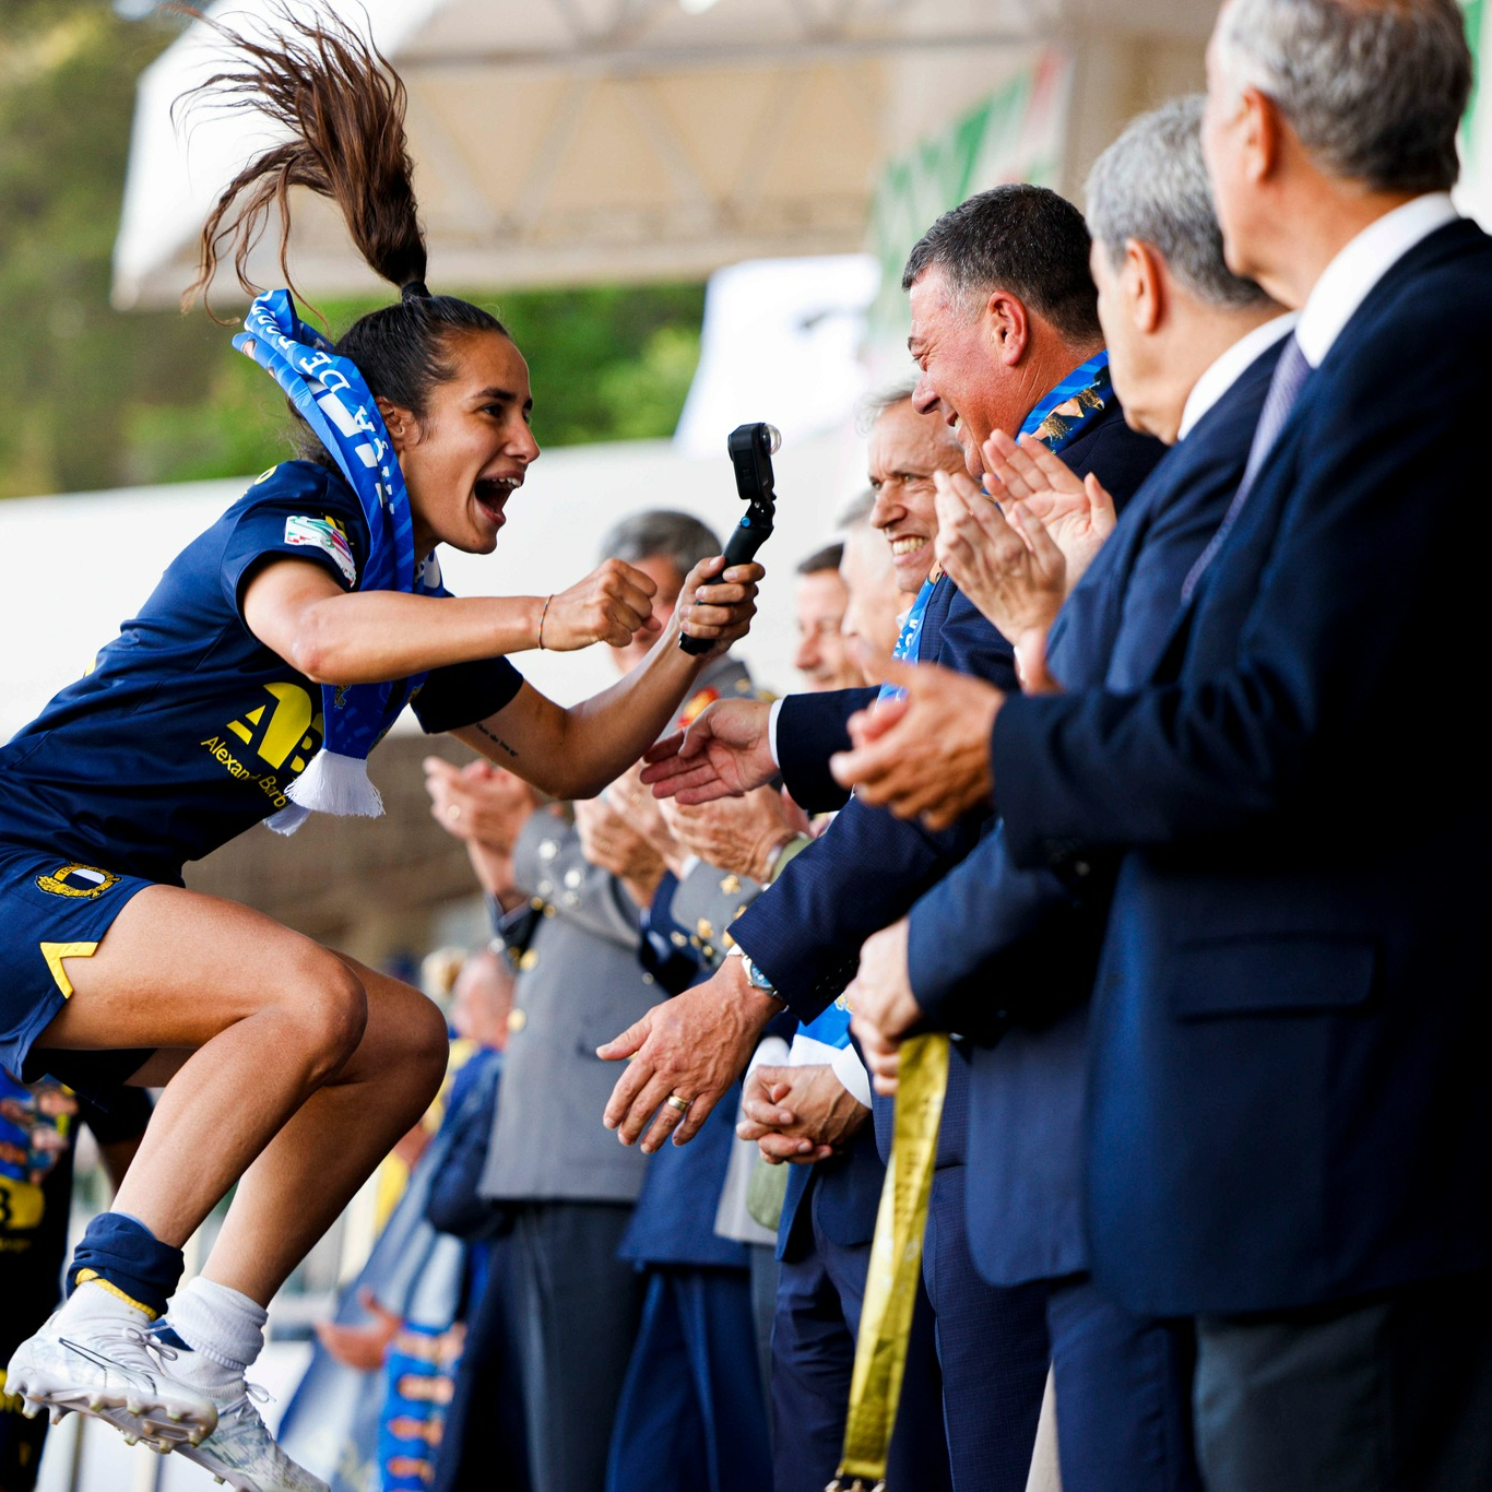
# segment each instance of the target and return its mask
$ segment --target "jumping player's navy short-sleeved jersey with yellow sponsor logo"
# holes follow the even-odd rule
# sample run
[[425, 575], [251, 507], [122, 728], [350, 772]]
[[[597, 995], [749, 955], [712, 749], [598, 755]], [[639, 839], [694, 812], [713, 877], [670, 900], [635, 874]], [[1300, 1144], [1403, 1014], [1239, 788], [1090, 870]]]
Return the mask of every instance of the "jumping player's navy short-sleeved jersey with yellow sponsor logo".
[[[321, 686], [254, 637], [243, 592], [282, 558], [354, 591], [367, 549], [339, 473], [266, 471], [172, 561], [88, 674], [0, 747], [0, 843], [179, 882], [186, 861], [285, 807], [321, 746]], [[427, 731], [470, 725], [521, 683], [503, 658], [437, 668], [415, 715]]]

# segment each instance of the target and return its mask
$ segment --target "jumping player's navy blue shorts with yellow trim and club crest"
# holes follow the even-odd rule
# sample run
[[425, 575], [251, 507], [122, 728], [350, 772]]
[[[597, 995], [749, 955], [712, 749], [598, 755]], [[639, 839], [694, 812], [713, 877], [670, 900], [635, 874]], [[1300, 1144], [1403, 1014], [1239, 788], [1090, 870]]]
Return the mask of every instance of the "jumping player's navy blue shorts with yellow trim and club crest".
[[0, 844], [0, 1067], [22, 1082], [42, 1073], [81, 1092], [124, 1082], [151, 1055], [131, 1052], [31, 1052], [72, 997], [64, 959], [88, 958], [136, 892], [155, 882], [84, 865], [61, 855]]

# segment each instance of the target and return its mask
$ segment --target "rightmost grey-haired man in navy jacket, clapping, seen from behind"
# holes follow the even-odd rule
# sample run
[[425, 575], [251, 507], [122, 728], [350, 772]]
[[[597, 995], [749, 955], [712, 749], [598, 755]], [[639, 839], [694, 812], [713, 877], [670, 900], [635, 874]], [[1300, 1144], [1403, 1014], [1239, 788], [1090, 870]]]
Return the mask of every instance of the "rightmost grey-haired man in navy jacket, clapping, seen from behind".
[[[1470, 82], [1452, 0], [1223, 7], [1228, 263], [1301, 319], [1161, 658], [1053, 698], [919, 670], [837, 764], [934, 821], [994, 788], [1016, 864], [1120, 852], [1091, 1256], [1197, 1319], [1223, 1492], [1492, 1485], [1483, 606], [1447, 565], [1492, 394], [1492, 243], [1446, 194]], [[901, 767], [953, 721], [983, 780], [959, 755], [930, 795]]]

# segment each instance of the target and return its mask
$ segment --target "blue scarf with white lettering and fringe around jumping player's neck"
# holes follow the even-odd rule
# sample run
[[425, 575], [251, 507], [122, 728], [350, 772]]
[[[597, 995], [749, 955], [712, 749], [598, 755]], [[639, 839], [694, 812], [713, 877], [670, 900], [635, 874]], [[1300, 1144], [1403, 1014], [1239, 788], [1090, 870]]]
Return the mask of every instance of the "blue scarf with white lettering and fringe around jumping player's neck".
[[[360, 589], [433, 591], [440, 571], [430, 561], [415, 564], [404, 473], [363, 374], [295, 315], [288, 289], [260, 295], [243, 328], [234, 348], [275, 376], [357, 494], [369, 528]], [[292, 806], [270, 818], [270, 828], [294, 834], [312, 810], [380, 816], [383, 800], [369, 780], [367, 756], [424, 680], [416, 674], [388, 683], [322, 685], [322, 747], [286, 788]]]

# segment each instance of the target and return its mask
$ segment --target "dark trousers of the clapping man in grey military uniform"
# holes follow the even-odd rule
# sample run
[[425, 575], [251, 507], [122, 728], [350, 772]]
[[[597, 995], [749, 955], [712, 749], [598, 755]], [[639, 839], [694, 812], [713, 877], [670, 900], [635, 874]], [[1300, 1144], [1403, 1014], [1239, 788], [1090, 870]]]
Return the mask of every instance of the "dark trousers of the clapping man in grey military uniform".
[[631, 1204], [527, 1203], [507, 1244], [533, 1492], [603, 1492], [643, 1277], [616, 1258]]

